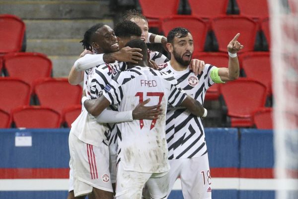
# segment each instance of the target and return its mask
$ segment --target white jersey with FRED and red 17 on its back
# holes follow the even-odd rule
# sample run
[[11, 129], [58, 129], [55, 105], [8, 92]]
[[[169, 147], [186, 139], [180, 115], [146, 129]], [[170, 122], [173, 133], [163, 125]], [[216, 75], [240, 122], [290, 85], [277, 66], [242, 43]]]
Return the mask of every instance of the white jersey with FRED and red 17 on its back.
[[161, 104], [157, 120], [134, 120], [118, 124], [118, 161], [128, 171], [160, 173], [169, 170], [165, 139], [167, 104], [178, 106], [186, 94], [168, 73], [136, 66], [122, 71], [105, 87], [103, 94], [119, 111], [134, 109], [150, 98], [146, 106]]

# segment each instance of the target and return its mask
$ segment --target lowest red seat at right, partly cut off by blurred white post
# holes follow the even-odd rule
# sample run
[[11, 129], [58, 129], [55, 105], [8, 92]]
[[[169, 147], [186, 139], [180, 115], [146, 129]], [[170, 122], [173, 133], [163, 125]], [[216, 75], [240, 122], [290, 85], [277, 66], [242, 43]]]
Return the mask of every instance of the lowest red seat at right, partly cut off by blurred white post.
[[259, 108], [253, 112], [253, 121], [257, 129], [273, 129], [272, 108]]

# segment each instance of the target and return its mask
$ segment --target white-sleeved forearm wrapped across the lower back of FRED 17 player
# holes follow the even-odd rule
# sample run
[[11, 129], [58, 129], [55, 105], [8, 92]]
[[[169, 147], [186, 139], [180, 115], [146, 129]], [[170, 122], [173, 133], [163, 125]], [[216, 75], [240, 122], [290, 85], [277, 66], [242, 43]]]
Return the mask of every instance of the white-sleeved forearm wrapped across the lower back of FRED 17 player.
[[131, 122], [133, 121], [133, 111], [114, 111], [104, 109], [100, 115], [96, 117], [96, 121], [100, 123], [114, 122]]

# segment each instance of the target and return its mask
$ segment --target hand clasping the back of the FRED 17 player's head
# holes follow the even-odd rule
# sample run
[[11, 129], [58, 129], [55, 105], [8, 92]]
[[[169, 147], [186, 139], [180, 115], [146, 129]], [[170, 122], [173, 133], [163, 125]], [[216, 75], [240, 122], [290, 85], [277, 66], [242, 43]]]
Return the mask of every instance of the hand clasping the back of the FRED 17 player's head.
[[138, 63], [139, 60], [142, 60], [143, 54], [140, 53], [141, 49], [124, 47], [121, 50], [114, 52], [116, 60]]

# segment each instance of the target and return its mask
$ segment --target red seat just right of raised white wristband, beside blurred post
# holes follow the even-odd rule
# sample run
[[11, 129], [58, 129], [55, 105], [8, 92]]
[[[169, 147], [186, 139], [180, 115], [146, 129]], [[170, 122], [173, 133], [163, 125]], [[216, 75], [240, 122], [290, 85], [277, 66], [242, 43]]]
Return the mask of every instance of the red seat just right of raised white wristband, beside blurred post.
[[246, 77], [255, 79], [267, 87], [272, 94], [272, 74], [270, 52], [248, 52], [240, 56], [240, 64]]

